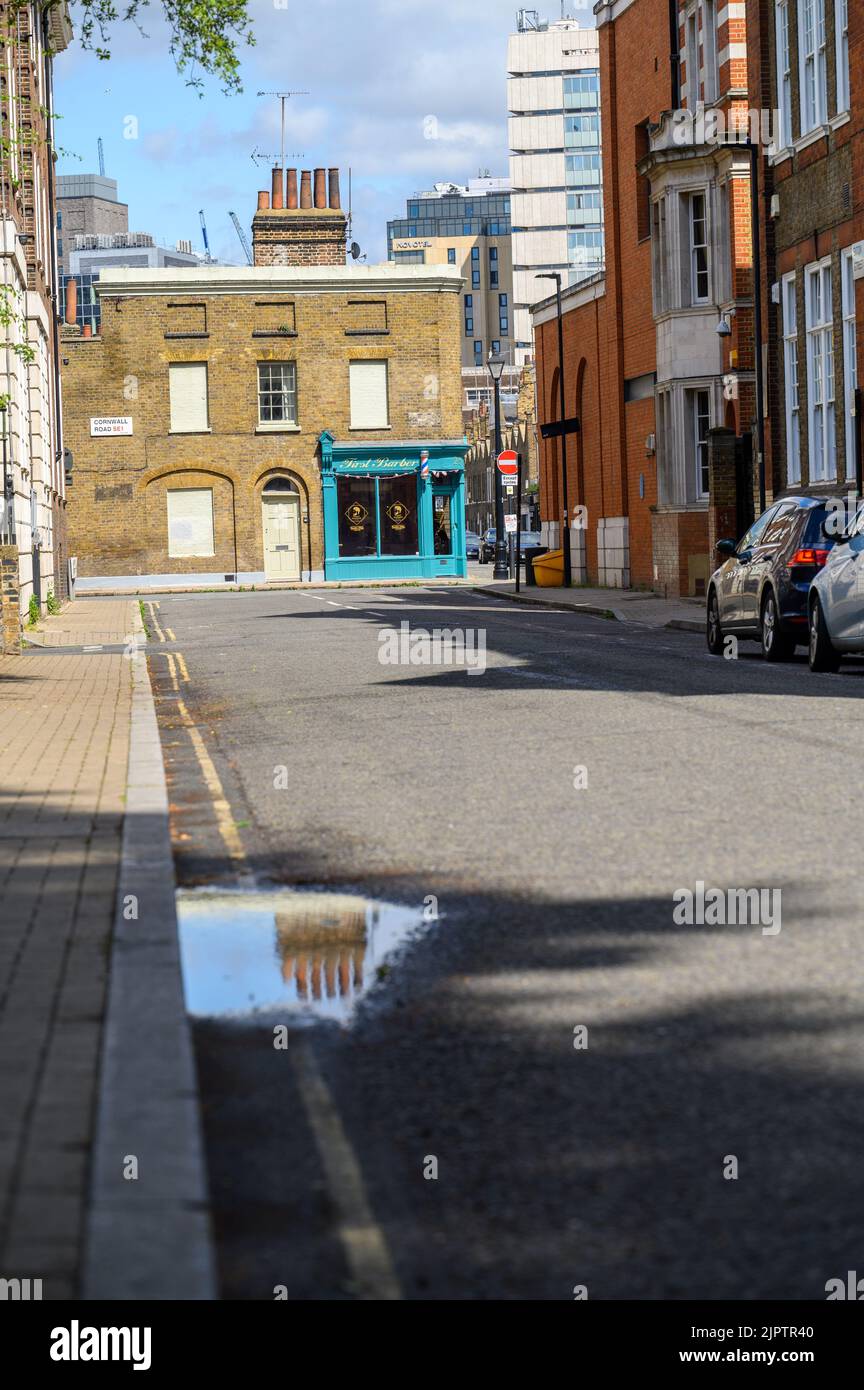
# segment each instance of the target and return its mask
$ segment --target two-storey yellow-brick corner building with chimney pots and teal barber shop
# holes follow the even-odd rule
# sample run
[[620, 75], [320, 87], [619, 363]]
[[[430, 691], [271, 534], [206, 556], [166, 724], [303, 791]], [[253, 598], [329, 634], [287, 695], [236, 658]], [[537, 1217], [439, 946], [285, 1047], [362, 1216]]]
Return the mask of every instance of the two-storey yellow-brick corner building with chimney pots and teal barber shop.
[[99, 336], [68, 314], [79, 577], [464, 573], [458, 270], [346, 265], [336, 171], [274, 171], [253, 246], [104, 271]]

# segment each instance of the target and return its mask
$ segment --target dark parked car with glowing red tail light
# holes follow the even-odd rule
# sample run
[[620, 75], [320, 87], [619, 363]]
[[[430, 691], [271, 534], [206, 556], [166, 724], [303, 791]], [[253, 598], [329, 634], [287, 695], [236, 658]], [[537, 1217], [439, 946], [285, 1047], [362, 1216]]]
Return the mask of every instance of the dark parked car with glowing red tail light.
[[825, 535], [825, 499], [781, 498], [743, 541], [720, 541], [724, 563], [708, 581], [707, 638], [714, 656], [729, 635], [761, 642], [767, 662], [785, 662], [808, 638], [810, 585], [833, 538]]

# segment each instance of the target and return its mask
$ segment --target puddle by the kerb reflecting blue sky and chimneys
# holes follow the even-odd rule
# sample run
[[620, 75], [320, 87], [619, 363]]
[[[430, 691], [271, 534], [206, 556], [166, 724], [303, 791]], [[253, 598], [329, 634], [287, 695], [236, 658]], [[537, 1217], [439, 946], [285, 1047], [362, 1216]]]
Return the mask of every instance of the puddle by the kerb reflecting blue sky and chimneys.
[[186, 1012], [350, 1023], [425, 926], [422, 908], [349, 894], [181, 890], [176, 912]]

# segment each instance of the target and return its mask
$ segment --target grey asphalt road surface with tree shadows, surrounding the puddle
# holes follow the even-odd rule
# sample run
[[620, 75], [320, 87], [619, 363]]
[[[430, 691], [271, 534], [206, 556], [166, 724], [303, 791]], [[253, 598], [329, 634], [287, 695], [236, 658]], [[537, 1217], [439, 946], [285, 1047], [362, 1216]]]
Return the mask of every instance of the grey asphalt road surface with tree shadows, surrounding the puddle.
[[[810, 1300], [861, 1268], [861, 664], [458, 589], [157, 613], [181, 881], [238, 866], [169, 651], [257, 883], [442, 915], [351, 1030], [196, 1024], [226, 1298], [363, 1293], [310, 1066], [401, 1297]], [[401, 621], [483, 630], [488, 670], [381, 664]], [[676, 926], [699, 881], [781, 890], [782, 930]]]

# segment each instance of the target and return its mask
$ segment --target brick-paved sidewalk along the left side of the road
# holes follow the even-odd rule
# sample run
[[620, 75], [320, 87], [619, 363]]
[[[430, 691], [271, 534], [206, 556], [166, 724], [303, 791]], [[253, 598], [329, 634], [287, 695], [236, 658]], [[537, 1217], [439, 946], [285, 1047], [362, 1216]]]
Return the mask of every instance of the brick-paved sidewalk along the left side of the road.
[[[124, 642], [136, 605], [78, 599], [58, 646]], [[0, 657], [0, 1277], [78, 1290], [126, 792], [132, 663]]]

